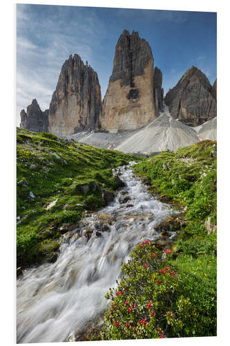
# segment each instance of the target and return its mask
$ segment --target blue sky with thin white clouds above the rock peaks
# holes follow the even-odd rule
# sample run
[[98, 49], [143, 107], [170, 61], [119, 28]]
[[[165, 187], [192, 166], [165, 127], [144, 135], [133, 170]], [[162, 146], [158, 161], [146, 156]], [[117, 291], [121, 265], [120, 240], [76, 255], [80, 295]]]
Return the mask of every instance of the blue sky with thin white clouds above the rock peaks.
[[117, 39], [138, 31], [163, 74], [164, 94], [189, 67], [216, 78], [216, 13], [17, 4], [17, 125], [36, 98], [49, 108], [61, 66], [77, 53], [97, 72], [102, 99]]

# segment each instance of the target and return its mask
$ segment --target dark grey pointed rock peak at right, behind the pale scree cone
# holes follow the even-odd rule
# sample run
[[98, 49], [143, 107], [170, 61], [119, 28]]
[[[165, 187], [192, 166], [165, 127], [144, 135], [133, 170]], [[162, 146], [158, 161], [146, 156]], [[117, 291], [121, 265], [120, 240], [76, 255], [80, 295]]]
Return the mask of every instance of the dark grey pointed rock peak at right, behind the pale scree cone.
[[174, 119], [198, 126], [216, 116], [216, 99], [206, 75], [192, 66], [164, 98]]

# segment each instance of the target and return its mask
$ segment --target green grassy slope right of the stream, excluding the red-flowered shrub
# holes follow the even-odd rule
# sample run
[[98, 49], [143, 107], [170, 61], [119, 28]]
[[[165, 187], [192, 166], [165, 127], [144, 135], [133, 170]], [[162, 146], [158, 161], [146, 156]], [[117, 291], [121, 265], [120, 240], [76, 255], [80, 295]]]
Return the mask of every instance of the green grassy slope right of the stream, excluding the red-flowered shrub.
[[204, 226], [208, 219], [216, 225], [216, 142], [162, 152], [138, 163], [135, 172], [151, 177], [151, 192], [185, 210], [187, 224], [173, 247], [172, 264], [199, 314], [195, 336], [216, 335], [216, 232], [208, 234]]

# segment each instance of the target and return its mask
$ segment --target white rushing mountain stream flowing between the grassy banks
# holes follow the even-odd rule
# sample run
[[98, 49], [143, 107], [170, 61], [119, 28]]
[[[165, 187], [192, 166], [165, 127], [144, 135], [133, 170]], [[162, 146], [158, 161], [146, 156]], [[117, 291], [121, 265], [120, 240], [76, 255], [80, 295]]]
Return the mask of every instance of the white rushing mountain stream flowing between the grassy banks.
[[[57, 261], [23, 271], [17, 280], [17, 343], [77, 340], [77, 331], [106, 309], [104, 295], [117, 285], [128, 253], [145, 239], [160, 238], [155, 225], [175, 210], [148, 193], [131, 165], [119, 167], [126, 187], [109, 206], [85, 217], [73, 237], [64, 237]], [[101, 232], [99, 224], [108, 220], [109, 229]]]

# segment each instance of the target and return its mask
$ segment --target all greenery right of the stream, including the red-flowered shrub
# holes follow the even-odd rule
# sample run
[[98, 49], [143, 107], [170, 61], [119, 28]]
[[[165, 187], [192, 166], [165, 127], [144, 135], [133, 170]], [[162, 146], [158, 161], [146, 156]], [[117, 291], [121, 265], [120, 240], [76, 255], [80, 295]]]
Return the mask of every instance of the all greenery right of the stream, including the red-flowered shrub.
[[131, 253], [106, 296], [103, 340], [216, 335], [216, 147], [203, 140], [135, 165], [184, 225], [171, 249], [146, 240]]

